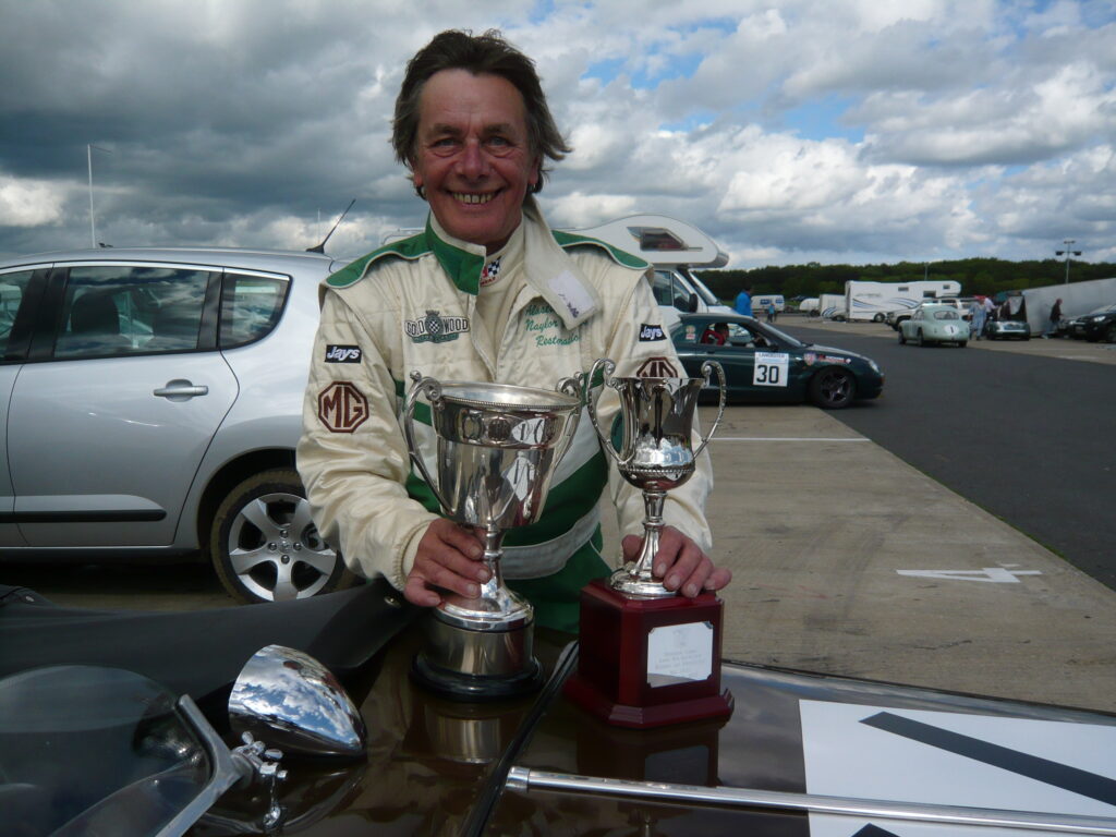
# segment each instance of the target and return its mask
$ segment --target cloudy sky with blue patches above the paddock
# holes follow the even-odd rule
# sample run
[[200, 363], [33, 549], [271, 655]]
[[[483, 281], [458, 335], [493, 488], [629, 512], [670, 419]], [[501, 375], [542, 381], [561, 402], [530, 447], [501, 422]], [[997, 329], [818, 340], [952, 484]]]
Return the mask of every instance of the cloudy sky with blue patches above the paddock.
[[[468, 9], [468, 11], [462, 11]], [[731, 267], [1116, 261], [1114, 0], [0, 0], [0, 256], [329, 252], [425, 219], [388, 144], [406, 59], [496, 27], [575, 147], [555, 227], [638, 212]]]

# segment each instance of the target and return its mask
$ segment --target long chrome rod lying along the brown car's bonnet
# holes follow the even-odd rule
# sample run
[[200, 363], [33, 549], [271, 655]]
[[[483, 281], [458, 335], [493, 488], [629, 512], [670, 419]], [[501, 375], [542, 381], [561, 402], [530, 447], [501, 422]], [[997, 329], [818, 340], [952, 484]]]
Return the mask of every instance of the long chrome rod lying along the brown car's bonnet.
[[1116, 818], [1084, 817], [1074, 814], [1013, 811], [997, 808], [932, 805], [926, 802], [892, 802], [854, 797], [830, 797], [817, 793], [790, 793], [745, 788], [706, 788], [698, 785], [637, 782], [605, 779], [595, 776], [555, 773], [513, 767], [508, 772], [508, 787], [517, 790], [578, 790], [589, 793], [677, 800], [693, 805], [708, 802], [756, 808], [783, 808], [815, 814], [834, 814], [866, 818], [902, 819], [950, 825], [1026, 828], [1035, 831], [1061, 831], [1116, 836]]

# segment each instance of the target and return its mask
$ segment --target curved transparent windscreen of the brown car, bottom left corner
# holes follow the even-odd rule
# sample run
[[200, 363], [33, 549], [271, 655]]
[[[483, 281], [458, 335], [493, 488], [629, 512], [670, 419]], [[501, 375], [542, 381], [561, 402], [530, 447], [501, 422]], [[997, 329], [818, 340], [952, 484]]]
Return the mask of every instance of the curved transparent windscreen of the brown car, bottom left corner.
[[[26, 835], [154, 834], [212, 762], [173, 693], [122, 668], [59, 665], [0, 681], [0, 776]], [[50, 753], [54, 752], [54, 758]]]

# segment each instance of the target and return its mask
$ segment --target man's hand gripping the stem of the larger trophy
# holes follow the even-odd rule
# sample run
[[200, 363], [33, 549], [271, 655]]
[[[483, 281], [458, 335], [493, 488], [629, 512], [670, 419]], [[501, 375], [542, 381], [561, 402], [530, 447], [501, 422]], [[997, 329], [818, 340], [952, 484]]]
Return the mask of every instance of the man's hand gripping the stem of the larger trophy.
[[421, 607], [440, 605], [440, 591], [444, 590], [477, 596], [491, 575], [480, 561], [483, 555], [484, 547], [477, 535], [452, 520], [437, 518], [419, 541], [403, 595]]

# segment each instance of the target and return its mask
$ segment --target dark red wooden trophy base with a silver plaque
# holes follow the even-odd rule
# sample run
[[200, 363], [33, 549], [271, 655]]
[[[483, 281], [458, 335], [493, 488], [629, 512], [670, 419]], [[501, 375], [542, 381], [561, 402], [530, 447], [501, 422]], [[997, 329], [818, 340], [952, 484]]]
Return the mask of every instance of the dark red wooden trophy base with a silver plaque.
[[628, 598], [607, 581], [581, 589], [577, 672], [566, 696], [617, 727], [647, 729], [732, 714], [721, 691], [723, 603]]

